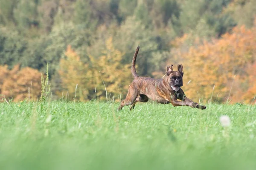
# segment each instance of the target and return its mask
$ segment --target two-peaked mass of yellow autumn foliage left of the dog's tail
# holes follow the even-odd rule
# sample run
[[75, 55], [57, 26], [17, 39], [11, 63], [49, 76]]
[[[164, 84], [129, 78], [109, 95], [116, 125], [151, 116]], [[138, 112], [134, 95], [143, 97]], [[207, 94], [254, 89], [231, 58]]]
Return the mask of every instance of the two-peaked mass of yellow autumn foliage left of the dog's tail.
[[[99, 57], [89, 56], [89, 62], [84, 64], [69, 45], [66, 58], [60, 62], [59, 74], [62, 87], [74, 96], [76, 84], [80, 87], [79, 99], [106, 99], [124, 94], [132, 81], [131, 65], [121, 63], [123, 54], [113, 47], [112, 38], [105, 42], [105, 50]], [[105, 84], [105, 86], [104, 86]], [[106, 89], [105, 89], [106, 87]], [[96, 92], [95, 92], [96, 90]]]

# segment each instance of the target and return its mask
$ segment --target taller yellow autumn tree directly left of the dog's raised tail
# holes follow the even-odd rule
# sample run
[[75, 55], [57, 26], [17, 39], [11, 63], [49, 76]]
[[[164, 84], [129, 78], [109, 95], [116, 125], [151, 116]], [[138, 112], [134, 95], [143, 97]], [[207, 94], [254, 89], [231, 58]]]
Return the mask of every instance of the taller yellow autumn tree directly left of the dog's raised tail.
[[[105, 50], [98, 59], [90, 56], [93, 71], [92, 88], [96, 88], [96, 95], [100, 99], [106, 97], [106, 91], [109, 96], [117, 98], [118, 95], [124, 95], [127, 92], [128, 85], [131, 83], [131, 65], [122, 64], [124, 54], [114, 48], [112, 37], [106, 40], [105, 44]], [[87, 77], [90, 75], [91, 73], [87, 72]]]

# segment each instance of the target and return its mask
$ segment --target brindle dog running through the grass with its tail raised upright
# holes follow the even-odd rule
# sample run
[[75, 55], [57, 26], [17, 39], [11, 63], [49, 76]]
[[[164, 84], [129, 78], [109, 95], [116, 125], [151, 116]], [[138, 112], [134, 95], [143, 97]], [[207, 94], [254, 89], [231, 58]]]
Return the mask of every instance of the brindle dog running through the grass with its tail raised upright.
[[[206, 106], [199, 105], [187, 98], [183, 90], [183, 66], [178, 64], [178, 71], [173, 71], [172, 66], [167, 66], [166, 75], [163, 79], [153, 79], [150, 77], [139, 77], [135, 64], [140, 46], [137, 47], [131, 64], [131, 73], [134, 77], [129, 85], [126, 98], [120, 103], [118, 111], [124, 106], [130, 105], [130, 110], [134, 109], [137, 102], [148, 102], [149, 99], [157, 103], [169, 104], [173, 106], [189, 106], [192, 108], [206, 109]], [[181, 100], [178, 101], [177, 99]]]

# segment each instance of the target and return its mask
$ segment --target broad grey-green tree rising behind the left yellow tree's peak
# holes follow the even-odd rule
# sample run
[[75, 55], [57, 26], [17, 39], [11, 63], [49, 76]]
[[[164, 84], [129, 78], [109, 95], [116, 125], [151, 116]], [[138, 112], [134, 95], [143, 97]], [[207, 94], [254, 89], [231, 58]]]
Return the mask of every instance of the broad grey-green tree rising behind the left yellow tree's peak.
[[79, 29], [73, 23], [53, 27], [49, 36], [41, 36], [29, 43], [29, 49], [23, 58], [23, 66], [30, 66], [42, 71], [49, 63], [49, 77], [55, 74], [59, 61], [67, 45], [74, 48], [87, 46], [90, 42], [90, 31]]

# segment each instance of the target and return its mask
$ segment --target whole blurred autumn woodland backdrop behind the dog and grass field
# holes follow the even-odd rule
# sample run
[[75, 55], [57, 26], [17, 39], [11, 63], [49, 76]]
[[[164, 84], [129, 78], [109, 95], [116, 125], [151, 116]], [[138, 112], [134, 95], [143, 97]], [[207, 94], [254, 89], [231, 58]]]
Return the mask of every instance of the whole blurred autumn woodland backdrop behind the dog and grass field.
[[[256, 0], [0, 0], [1, 100], [124, 98], [183, 64], [186, 96], [255, 104]], [[103, 83], [104, 82], [104, 83]], [[105, 88], [106, 87], [106, 88]]]

